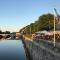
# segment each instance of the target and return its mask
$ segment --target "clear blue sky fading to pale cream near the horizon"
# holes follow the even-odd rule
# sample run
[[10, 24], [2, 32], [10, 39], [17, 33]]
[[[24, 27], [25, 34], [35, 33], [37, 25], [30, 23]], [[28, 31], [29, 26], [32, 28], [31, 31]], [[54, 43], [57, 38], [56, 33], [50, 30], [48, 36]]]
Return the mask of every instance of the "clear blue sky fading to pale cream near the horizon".
[[60, 13], [60, 0], [0, 0], [0, 30], [19, 31], [54, 8]]

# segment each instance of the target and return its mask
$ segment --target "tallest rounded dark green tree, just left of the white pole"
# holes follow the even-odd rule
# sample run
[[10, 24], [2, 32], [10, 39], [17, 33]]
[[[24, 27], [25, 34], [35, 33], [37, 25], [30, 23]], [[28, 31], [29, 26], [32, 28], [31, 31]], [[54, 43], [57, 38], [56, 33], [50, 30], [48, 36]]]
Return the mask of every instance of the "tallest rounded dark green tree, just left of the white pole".
[[[44, 14], [39, 17], [39, 30], [51, 30], [53, 28], [54, 15], [53, 14]], [[49, 22], [50, 21], [50, 22]], [[50, 28], [49, 28], [50, 27]]]

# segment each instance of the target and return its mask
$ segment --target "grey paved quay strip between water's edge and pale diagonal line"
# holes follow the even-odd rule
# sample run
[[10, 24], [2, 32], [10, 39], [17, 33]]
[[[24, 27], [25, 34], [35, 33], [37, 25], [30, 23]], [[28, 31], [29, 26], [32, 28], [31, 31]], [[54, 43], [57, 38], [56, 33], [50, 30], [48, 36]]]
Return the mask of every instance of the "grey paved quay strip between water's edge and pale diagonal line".
[[26, 41], [33, 60], [60, 60], [60, 54], [38, 44], [37, 42]]

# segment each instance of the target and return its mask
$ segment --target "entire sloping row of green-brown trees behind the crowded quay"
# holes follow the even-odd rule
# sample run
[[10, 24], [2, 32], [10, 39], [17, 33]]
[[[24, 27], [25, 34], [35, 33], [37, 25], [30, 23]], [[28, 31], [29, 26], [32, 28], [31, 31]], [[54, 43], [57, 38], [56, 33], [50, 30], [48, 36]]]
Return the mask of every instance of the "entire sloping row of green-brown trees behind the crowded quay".
[[52, 30], [54, 27], [54, 15], [53, 14], [43, 14], [41, 15], [35, 23], [31, 23], [30, 25], [22, 28], [20, 32], [23, 30], [26, 34], [34, 33], [40, 30]]

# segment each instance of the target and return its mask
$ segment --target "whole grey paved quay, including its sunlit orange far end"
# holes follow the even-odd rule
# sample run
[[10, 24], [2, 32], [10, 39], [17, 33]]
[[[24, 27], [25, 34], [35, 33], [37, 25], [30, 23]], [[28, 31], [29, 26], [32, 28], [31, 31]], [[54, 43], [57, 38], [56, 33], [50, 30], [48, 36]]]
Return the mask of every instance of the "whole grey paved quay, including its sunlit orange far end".
[[[25, 43], [33, 60], [59, 60], [60, 47], [54, 47], [45, 40], [33, 41], [25, 36]], [[53, 57], [52, 57], [53, 56]]]

